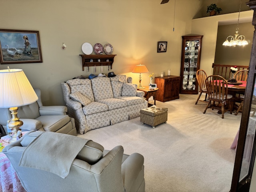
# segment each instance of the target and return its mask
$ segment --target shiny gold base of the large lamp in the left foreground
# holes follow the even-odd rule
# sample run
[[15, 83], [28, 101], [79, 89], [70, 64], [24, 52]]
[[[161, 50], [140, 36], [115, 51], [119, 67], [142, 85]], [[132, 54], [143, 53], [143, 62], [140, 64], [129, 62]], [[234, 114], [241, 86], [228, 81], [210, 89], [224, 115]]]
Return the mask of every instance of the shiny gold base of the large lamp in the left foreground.
[[17, 137], [17, 133], [19, 131], [20, 131], [19, 137], [22, 136], [20, 127], [23, 125], [23, 122], [17, 116], [18, 107], [11, 107], [9, 110], [12, 114], [12, 118], [8, 122], [8, 127], [10, 128], [10, 130], [12, 130], [12, 138], [9, 140], [9, 143], [12, 143], [12, 142], [15, 142], [17, 139], [19, 139]]

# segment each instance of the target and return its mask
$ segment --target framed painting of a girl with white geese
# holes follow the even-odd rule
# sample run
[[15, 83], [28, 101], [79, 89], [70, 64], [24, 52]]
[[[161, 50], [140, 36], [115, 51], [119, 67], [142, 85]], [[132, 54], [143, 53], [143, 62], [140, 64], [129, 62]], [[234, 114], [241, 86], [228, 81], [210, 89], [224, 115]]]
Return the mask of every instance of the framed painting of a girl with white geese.
[[0, 63], [42, 62], [39, 31], [0, 29]]

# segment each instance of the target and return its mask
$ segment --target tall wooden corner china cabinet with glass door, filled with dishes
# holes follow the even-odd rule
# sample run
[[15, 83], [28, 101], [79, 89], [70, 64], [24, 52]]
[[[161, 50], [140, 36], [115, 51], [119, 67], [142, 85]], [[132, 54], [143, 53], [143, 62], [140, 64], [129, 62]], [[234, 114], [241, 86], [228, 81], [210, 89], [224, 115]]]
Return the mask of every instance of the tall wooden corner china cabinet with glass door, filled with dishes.
[[180, 93], [198, 94], [196, 71], [200, 67], [202, 35], [182, 36]]

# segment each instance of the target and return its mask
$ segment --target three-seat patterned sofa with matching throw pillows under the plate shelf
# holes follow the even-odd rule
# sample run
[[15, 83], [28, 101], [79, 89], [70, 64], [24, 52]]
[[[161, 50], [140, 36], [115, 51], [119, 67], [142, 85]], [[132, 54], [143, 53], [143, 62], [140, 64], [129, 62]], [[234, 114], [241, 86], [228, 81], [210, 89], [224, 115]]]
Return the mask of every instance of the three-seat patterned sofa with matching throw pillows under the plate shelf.
[[75, 119], [79, 134], [140, 116], [147, 108], [144, 92], [137, 90], [132, 78], [75, 78], [61, 83], [68, 114]]

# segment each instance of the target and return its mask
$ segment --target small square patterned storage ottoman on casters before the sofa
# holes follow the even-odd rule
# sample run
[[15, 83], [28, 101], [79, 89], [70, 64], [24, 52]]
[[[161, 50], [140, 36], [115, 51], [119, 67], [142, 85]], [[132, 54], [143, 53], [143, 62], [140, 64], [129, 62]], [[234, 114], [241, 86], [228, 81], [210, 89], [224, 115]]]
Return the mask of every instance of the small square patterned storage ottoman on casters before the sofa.
[[155, 128], [155, 126], [166, 123], [168, 116], [168, 108], [158, 107], [153, 105], [146, 109], [140, 110], [140, 122], [148, 124]]

